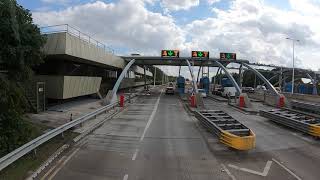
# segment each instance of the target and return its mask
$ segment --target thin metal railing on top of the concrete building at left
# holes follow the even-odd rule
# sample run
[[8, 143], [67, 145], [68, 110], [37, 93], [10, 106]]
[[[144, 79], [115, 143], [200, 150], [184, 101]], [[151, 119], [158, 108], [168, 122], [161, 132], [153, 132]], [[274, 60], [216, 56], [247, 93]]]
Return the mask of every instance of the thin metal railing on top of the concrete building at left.
[[90, 35], [81, 32], [77, 28], [70, 26], [69, 24], [59, 24], [59, 25], [52, 25], [52, 26], [44, 26], [40, 27], [40, 31], [42, 34], [54, 34], [54, 33], [60, 33], [65, 32], [72, 36], [78, 37], [79, 39], [88, 42], [90, 44], [96, 45], [98, 48], [104, 49], [108, 53], [114, 54], [114, 50], [110, 48], [109, 46], [106, 46], [105, 44], [101, 43], [98, 40], [95, 40]]

